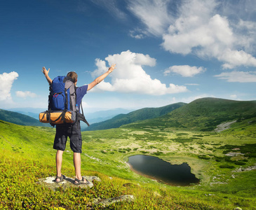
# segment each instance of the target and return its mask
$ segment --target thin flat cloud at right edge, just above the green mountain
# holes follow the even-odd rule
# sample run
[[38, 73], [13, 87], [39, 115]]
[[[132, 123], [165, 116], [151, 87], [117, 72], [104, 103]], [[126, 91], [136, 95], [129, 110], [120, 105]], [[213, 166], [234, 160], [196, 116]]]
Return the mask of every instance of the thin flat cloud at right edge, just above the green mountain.
[[256, 72], [231, 71], [222, 72], [215, 77], [227, 80], [229, 83], [256, 83]]

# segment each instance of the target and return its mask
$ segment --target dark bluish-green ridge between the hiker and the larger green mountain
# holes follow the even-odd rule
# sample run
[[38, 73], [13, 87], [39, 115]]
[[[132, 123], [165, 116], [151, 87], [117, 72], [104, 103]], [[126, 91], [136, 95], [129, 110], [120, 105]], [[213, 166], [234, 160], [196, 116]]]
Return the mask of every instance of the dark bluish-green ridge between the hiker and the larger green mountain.
[[126, 125], [139, 120], [158, 118], [184, 105], [185, 105], [184, 103], [180, 102], [177, 104], [170, 104], [168, 106], [163, 106], [159, 108], [144, 108], [144, 109], [139, 109], [137, 111], [132, 111], [128, 114], [120, 114], [110, 120], [105, 120], [104, 122], [101, 122], [101, 123], [94, 123], [90, 125], [90, 127], [86, 127], [86, 131], [106, 130], [110, 128], [120, 127], [121, 125]]

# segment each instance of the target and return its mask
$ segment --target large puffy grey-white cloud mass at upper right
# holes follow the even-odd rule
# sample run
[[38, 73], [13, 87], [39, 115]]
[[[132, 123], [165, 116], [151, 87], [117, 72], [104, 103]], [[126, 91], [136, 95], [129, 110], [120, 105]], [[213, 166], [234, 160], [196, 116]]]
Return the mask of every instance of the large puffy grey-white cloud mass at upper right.
[[[191, 1], [191, 3], [198, 3]], [[203, 3], [203, 7], [208, 6]], [[196, 9], [197, 10], [197, 9]], [[194, 53], [198, 57], [215, 57], [224, 62], [224, 69], [236, 66], [256, 66], [256, 59], [244, 50], [236, 50], [241, 37], [234, 34], [229, 20], [220, 15], [185, 15], [182, 13], [168, 33], [163, 35], [163, 48], [170, 52], [187, 55]], [[243, 41], [245, 39], [243, 38]], [[243, 43], [245, 45], [245, 43]]]

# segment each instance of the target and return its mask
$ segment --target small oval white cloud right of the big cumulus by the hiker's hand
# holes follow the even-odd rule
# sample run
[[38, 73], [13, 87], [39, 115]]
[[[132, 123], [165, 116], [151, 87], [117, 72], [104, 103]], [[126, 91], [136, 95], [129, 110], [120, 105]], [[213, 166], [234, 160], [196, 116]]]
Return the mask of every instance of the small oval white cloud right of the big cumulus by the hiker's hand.
[[163, 72], [163, 74], [166, 76], [169, 73], [173, 72], [173, 73], [178, 73], [184, 77], [192, 77], [204, 71], [206, 71], [206, 69], [204, 69], [203, 67], [188, 66], [188, 65], [170, 66], [166, 71]]

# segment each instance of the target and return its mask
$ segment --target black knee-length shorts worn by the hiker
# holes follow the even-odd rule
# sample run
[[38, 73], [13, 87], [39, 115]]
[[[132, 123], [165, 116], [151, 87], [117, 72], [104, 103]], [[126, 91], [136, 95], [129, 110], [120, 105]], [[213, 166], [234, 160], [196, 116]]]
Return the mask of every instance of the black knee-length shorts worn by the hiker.
[[53, 148], [58, 151], [65, 151], [67, 137], [70, 139], [70, 148], [72, 151], [74, 153], [82, 153], [82, 137], [79, 121], [74, 125], [70, 123], [56, 125]]

